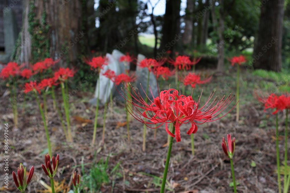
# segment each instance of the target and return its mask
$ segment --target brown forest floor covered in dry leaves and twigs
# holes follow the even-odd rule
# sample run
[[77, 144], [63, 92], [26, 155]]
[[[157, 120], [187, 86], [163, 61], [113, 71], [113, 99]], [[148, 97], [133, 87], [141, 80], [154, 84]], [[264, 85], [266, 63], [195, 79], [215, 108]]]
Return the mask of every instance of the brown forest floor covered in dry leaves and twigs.
[[[228, 73], [221, 80], [221, 76], [213, 76], [213, 88], [223, 94], [235, 91], [235, 78]], [[255, 85], [259, 78], [253, 78], [244, 72], [244, 82]], [[223, 91], [221, 91], [223, 89]], [[186, 134], [190, 125], [182, 125], [181, 142], [174, 140], [170, 168], [168, 171], [167, 192], [233, 192], [229, 187], [232, 182], [231, 166], [229, 159], [222, 151], [222, 137], [231, 133], [236, 138], [236, 150], [234, 155], [234, 168], [238, 192], [277, 192], [276, 169], [276, 145], [274, 115], [264, 112], [261, 104], [252, 97], [252, 89], [241, 87], [240, 93], [240, 122], [235, 122], [235, 109], [215, 122], [205, 123], [198, 126], [195, 134], [195, 156], [191, 155], [190, 136]], [[44, 163], [43, 151], [47, 148], [45, 131], [35, 98], [30, 97], [26, 102], [26, 108], [22, 112], [23, 98], [19, 99], [19, 128], [13, 124], [13, 114], [9, 102], [9, 95], [5, 87], [0, 92], [0, 131], [1, 131], [1, 184], [4, 185], [3, 177], [4, 162], [4, 123], [9, 124], [9, 189], [1, 192], [18, 192], [15, 188], [12, 171], [17, 171], [20, 162], [28, 169], [35, 166], [34, 177], [29, 184], [28, 192], [46, 190], [40, 184], [44, 181], [48, 185], [48, 177], [42, 171], [41, 164]], [[19, 91], [20, 92], [20, 91]], [[59, 103], [61, 103], [61, 92]], [[209, 91], [210, 93], [211, 91]], [[208, 97], [204, 93], [203, 97]], [[159, 192], [164, 165], [167, 155], [167, 141], [165, 128], [162, 126], [157, 130], [154, 139], [154, 129], [148, 128], [146, 151], [142, 152], [143, 124], [133, 120], [130, 123], [131, 141], [127, 139], [127, 131], [124, 123], [126, 121], [124, 104], [116, 104], [113, 113], [108, 111], [106, 122], [105, 144], [102, 139], [102, 108], [100, 108], [97, 128], [97, 141], [91, 145], [93, 135], [93, 120], [95, 107], [88, 103], [93, 93], [77, 92], [70, 98], [71, 126], [73, 130], [73, 143], [67, 143], [62, 132], [58, 114], [52, 107], [52, 99], [48, 99], [48, 128], [53, 146], [53, 154], [59, 154], [59, 172], [56, 181], [64, 180], [64, 185], [72, 188], [72, 174], [76, 170], [81, 175], [83, 171], [88, 174], [92, 163], [101, 159], [108, 160], [108, 170], [120, 163], [118, 173], [111, 175], [110, 183], [103, 184], [102, 192]], [[285, 115], [279, 114], [281, 123]], [[284, 125], [279, 125], [279, 132], [284, 133]], [[284, 142], [280, 141], [280, 149]], [[280, 159], [283, 153], [280, 153]], [[86, 183], [86, 182], [82, 182]], [[112, 190], [112, 184], [114, 188]], [[69, 190], [69, 188], [68, 188]]]

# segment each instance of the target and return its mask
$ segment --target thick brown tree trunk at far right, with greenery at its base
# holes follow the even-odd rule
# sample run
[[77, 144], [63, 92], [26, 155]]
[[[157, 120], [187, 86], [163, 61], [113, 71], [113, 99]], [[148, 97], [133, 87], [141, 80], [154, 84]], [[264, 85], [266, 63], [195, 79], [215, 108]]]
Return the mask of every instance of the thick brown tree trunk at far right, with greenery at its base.
[[251, 63], [255, 69], [281, 71], [284, 0], [267, 1], [261, 8], [259, 33]]

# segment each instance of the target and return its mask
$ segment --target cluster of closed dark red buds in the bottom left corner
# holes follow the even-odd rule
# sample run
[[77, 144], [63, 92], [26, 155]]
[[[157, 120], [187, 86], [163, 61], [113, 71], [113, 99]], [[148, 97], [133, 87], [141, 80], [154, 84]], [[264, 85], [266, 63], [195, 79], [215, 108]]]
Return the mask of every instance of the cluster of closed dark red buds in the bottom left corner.
[[30, 168], [28, 177], [26, 179], [26, 167], [23, 168], [23, 164], [20, 163], [20, 167], [17, 170], [18, 179], [15, 172], [14, 171], [12, 172], [12, 177], [16, 185], [16, 188], [20, 190], [21, 192], [25, 192], [27, 185], [32, 179], [33, 173], [34, 173], [34, 166]]

